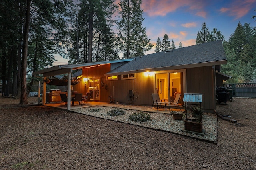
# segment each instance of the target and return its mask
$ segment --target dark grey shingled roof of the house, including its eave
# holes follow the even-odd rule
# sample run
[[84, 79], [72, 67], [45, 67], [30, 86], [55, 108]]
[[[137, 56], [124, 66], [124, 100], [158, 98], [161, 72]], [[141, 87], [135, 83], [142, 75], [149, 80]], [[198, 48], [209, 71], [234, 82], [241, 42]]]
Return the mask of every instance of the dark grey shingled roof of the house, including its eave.
[[200, 66], [226, 64], [222, 42], [212, 41], [135, 57], [134, 60], [106, 73], [105, 75], [137, 73], [158, 70], [175, 70]]

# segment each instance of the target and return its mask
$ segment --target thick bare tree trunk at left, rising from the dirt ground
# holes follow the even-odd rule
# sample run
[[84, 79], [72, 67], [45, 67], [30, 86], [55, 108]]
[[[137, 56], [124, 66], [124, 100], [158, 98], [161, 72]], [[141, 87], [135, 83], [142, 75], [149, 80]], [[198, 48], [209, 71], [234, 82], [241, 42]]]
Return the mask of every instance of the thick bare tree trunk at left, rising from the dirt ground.
[[28, 96], [26, 93], [27, 90], [27, 57], [28, 57], [28, 31], [29, 31], [29, 19], [30, 19], [30, 5], [31, 0], [27, 0], [26, 8], [26, 23], [24, 31], [24, 41], [23, 41], [23, 50], [22, 50], [22, 86], [20, 93], [20, 104], [28, 104]]

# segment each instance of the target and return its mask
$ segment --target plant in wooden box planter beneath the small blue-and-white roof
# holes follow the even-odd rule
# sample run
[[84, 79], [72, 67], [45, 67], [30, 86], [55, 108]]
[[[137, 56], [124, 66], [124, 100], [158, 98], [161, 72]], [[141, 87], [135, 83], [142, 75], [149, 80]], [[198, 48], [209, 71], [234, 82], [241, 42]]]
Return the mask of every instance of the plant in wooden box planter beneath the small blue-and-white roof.
[[188, 112], [192, 115], [192, 118], [188, 119], [186, 114], [186, 119], [184, 120], [184, 130], [204, 134], [203, 123], [202, 123], [202, 115], [203, 115], [202, 107], [198, 107], [198, 106], [190, 107]]

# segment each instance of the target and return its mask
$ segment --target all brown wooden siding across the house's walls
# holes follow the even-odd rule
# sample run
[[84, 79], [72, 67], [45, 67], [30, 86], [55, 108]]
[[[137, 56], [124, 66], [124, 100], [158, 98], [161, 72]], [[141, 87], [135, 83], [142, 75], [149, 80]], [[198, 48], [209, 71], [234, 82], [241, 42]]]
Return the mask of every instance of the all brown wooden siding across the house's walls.
[[[129, 103], [129, 90], [135, 91], [135, 102], [132, 104], [151, 105], [152, 95], [154, 93], [154, 76], [147, 76], [144, 73], [136, 73], [135, 79], [121, 80], [121, 75], [118, 75], [118, 80], [106, 80], [104, 73], [110, 71], [110, 64], [84, 68], [83, 76], [80, 78], [80, 83], [73, 86], [73, 91], [82, 92], [84, 95], [89, 91], [88, 82], [84, 86], [83, 78], [93, 79], [100, 78], [100, 101], [109, 102], [109, 96], [114, 97], [115, 102]], [[212, 66], [189, 68], [186, 71], [186, 93], [202, 93], [204, 110], [213, 111], [216, 109], [215, 103], [215, 72]], [[183, 75], [185, 76], [185, 75]], [[104, 84], [104, 87], [101, 86]], [[105, 85], [107, 88], [105, 89]]]

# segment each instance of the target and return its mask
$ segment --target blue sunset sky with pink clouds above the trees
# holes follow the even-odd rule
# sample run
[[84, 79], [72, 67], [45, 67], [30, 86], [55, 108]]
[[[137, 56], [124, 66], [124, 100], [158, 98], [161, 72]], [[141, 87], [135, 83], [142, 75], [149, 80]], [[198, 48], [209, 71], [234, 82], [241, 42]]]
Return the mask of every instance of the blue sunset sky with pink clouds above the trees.
[[[120, 0], [116, 0], [118, 2]], [[234, 33], [238, 23], [249, 23], [256, 27], [256, 0], [142, 0], [142, 26], [154, 47], [146, 54], [154, 53], [156, 40], [162, 41], [164, 34], [176, 48], [196, 44], [197, 32], [206, 23], [209, 31], [217, 28], [226, 41]], [[68, 60], [55, 56], [55, 65], [67, 64]]]

